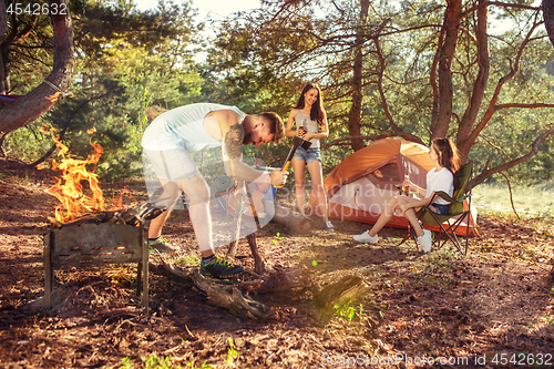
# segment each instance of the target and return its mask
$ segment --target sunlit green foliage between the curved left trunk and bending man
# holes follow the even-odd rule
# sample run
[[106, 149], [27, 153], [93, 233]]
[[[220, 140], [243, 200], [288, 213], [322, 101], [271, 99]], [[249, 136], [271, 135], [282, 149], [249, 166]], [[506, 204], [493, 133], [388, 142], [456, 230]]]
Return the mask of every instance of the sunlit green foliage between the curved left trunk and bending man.
[[[25, 162], [39, 160], [53, 145], [38, 130], [47, 125], [58, 131], [72, 155], [85, 157], [91, 151], [85, 131], [95, 127], [92, 140], [104, 148], [99, 177], [138, 175], [142, 134], [150, 121], [167, 109], [195, 102], [201, 93], [203, 80], [186, 49], [197, 31], [189, 2], [162, 2], [155, 12], [137, 12], [124, 0], [115, 7], [92, 1], [72, 7], [80, 11], [75, 34], [82, 35], [75, 44], [75, 85], [44, 116], [12, 132], [4, 151]], [[154, 24], [157, 32], [151, 31]]]

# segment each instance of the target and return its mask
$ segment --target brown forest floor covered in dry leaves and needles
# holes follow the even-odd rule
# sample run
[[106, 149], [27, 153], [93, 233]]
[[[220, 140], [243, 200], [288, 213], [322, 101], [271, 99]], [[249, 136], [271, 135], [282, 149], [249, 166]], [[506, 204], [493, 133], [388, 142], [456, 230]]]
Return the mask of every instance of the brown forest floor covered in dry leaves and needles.
[[[134, 295], [132, 264], [55, 269], [47, 310], [53, 183], [49, 172], [0, 162], [0, 368], [554, 366], [552, 219], [480, 216], [466, 256], [451, 245], [429, 254], [412, 242], [397, 246], [402, 229], [359, 245], [352, 235], [366, 224], [334, 219], [335, 233], [298, 236], [270, 223], [257, 234], [266, 267], [300, 270], [308, 283], [252, 296], [277, 312], [265, 320], [208, 305], [192, 281], [156, 271], [153, 255], [148, 314]], [[123, 185], [103, 184], [104, 195]], [[175, 265], [196, 268], [186, 211], [172, 214], [165, 236], [183, 249]], [[253, 269], [245, 240], [236, 260]], [[368, 293], [322, 325], [311, 312], [314, 290], [346, 275], [360, 276]]]

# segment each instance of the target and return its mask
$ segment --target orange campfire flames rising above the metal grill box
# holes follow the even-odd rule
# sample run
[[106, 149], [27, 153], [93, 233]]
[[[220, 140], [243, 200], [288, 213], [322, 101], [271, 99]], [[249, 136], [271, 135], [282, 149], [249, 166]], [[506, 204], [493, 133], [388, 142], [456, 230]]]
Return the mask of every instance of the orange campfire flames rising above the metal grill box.
[[[104, 197], [100, 189], [99, 180], [96, 174], [92, 173], [104, 148], [100, 144], [94, 144], [91, 137], [89, 143], [93, 147], [93, 151], [86, 160], [73, 158], [68, 155], [68, 146], [62, 144], [60, 137], [54, 134], [54, 129], [43, 129], [43, 131], [50, 133], [58, 147], [60, 161], [52, 161], [52, 170], [62, 172], [62, 175], [57, 177], [58, 183], [47, 189], [49, 194], [55, 196], [61, 203], [55, 208], [55, 219], [65, 223], [85, 213], [104, 211]], [[86, 132], [94, 133], [96, 130], [89, 130]], [[86, 165], [93, 165], [93, 171], [89, 172]], [[82, 182], [89, 185], [91, 196], [83, 194]]]

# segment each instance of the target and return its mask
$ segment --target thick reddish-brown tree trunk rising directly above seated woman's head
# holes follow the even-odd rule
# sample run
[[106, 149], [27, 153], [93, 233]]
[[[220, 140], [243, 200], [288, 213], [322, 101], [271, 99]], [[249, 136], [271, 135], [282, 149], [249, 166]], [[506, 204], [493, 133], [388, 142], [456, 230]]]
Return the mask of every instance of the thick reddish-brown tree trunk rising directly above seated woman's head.
[[439, 45], [439, 99], [434, 125], [430, 127], [431, 140], [444, 137], [449, 132], [450, 120], [452, 117], [452, 60], [458, 44], [458, 30], [462, 19], [462, 0], [447, 0], [444, 12], [444, 42]]

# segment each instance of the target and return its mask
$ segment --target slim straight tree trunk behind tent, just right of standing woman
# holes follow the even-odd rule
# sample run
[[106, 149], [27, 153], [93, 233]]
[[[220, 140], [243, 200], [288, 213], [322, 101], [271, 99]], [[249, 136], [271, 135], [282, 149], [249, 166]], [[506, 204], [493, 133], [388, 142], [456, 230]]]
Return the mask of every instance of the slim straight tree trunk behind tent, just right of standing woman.
[[353, 76], [352, 76], [352, 106], [348, 116], [348, 130], [352, 139], [352, 150], [358, 151], [366, 145], [359, 139], [361, 136], [360, 120], [363, 94], [361, 92], [362, 78], [363, 78], [363, 41], [361, 34], [365, 33], [365, 25], [367, 24], [369, 13], [369, 0], [360, 0], [360, 22], [358, 25], [358, 35], [356, 37], [356, 49], [353, 60]]

